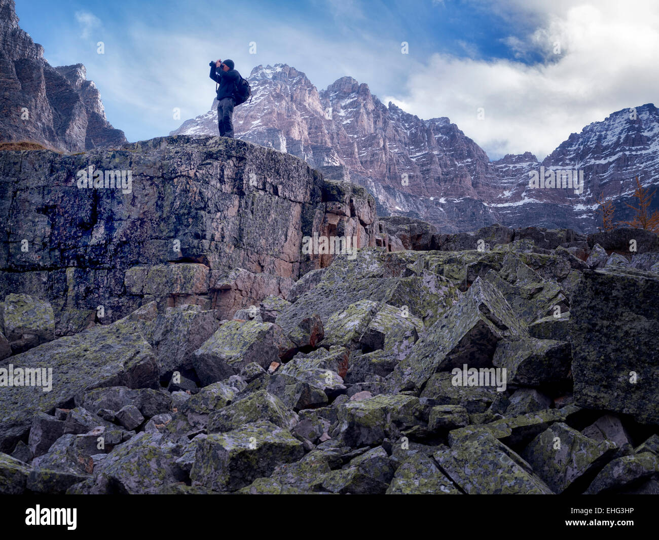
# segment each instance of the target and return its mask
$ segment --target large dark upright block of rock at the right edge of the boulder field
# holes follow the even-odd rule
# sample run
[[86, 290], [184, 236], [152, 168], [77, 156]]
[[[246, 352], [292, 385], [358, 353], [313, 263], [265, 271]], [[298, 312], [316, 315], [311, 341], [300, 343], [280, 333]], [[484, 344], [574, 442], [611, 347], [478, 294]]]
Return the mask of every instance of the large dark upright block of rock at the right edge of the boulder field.
[[585, 270], [570, 308], [577, 404], [659, 424], [659, 277]]

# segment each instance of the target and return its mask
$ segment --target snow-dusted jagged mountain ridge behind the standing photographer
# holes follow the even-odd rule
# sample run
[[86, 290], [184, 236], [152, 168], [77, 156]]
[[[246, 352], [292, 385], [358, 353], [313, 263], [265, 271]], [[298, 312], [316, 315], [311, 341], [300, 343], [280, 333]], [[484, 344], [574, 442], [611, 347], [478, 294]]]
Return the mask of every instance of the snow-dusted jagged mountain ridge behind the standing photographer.
[[[495, 222], [593, 231], [600, 194], [614, 199], [617, 218], [630, 219], [623, 203], [632, 202], [635, 174], [648, 184], [656, 170], [659, 113], [652, 104], [637, 107], [635, 119], [622, 109], [571, 134], [542, 163], [530, 152], [490, 162], [448, 118], [422, 120], [384, 105], [352, 77], [318, 91], [304, 73], [275, 64], [255, 67], [249, 80], [252, 103], [234, 116], [239, 138], [294, 154], [332, 179], [364, 185], [382, 215], [420, 218], [445, 232]], [[215, 106], [171, 135], [217, 133]], [[582, 169], [583, 194], [529, 190], [529, 171], [541, 165]]]

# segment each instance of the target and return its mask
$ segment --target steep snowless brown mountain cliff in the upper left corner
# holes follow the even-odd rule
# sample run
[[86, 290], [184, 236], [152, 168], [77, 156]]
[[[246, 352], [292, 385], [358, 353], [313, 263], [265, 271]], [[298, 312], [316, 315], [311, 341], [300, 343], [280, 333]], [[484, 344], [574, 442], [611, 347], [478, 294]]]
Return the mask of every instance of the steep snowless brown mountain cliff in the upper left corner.
[[84, 65], [51, 67], [42, 45], [18, 26], [14, 0], [0, 0], [0, 140], [30, 140], [57, 150], [126, 142], [105, 119]]

